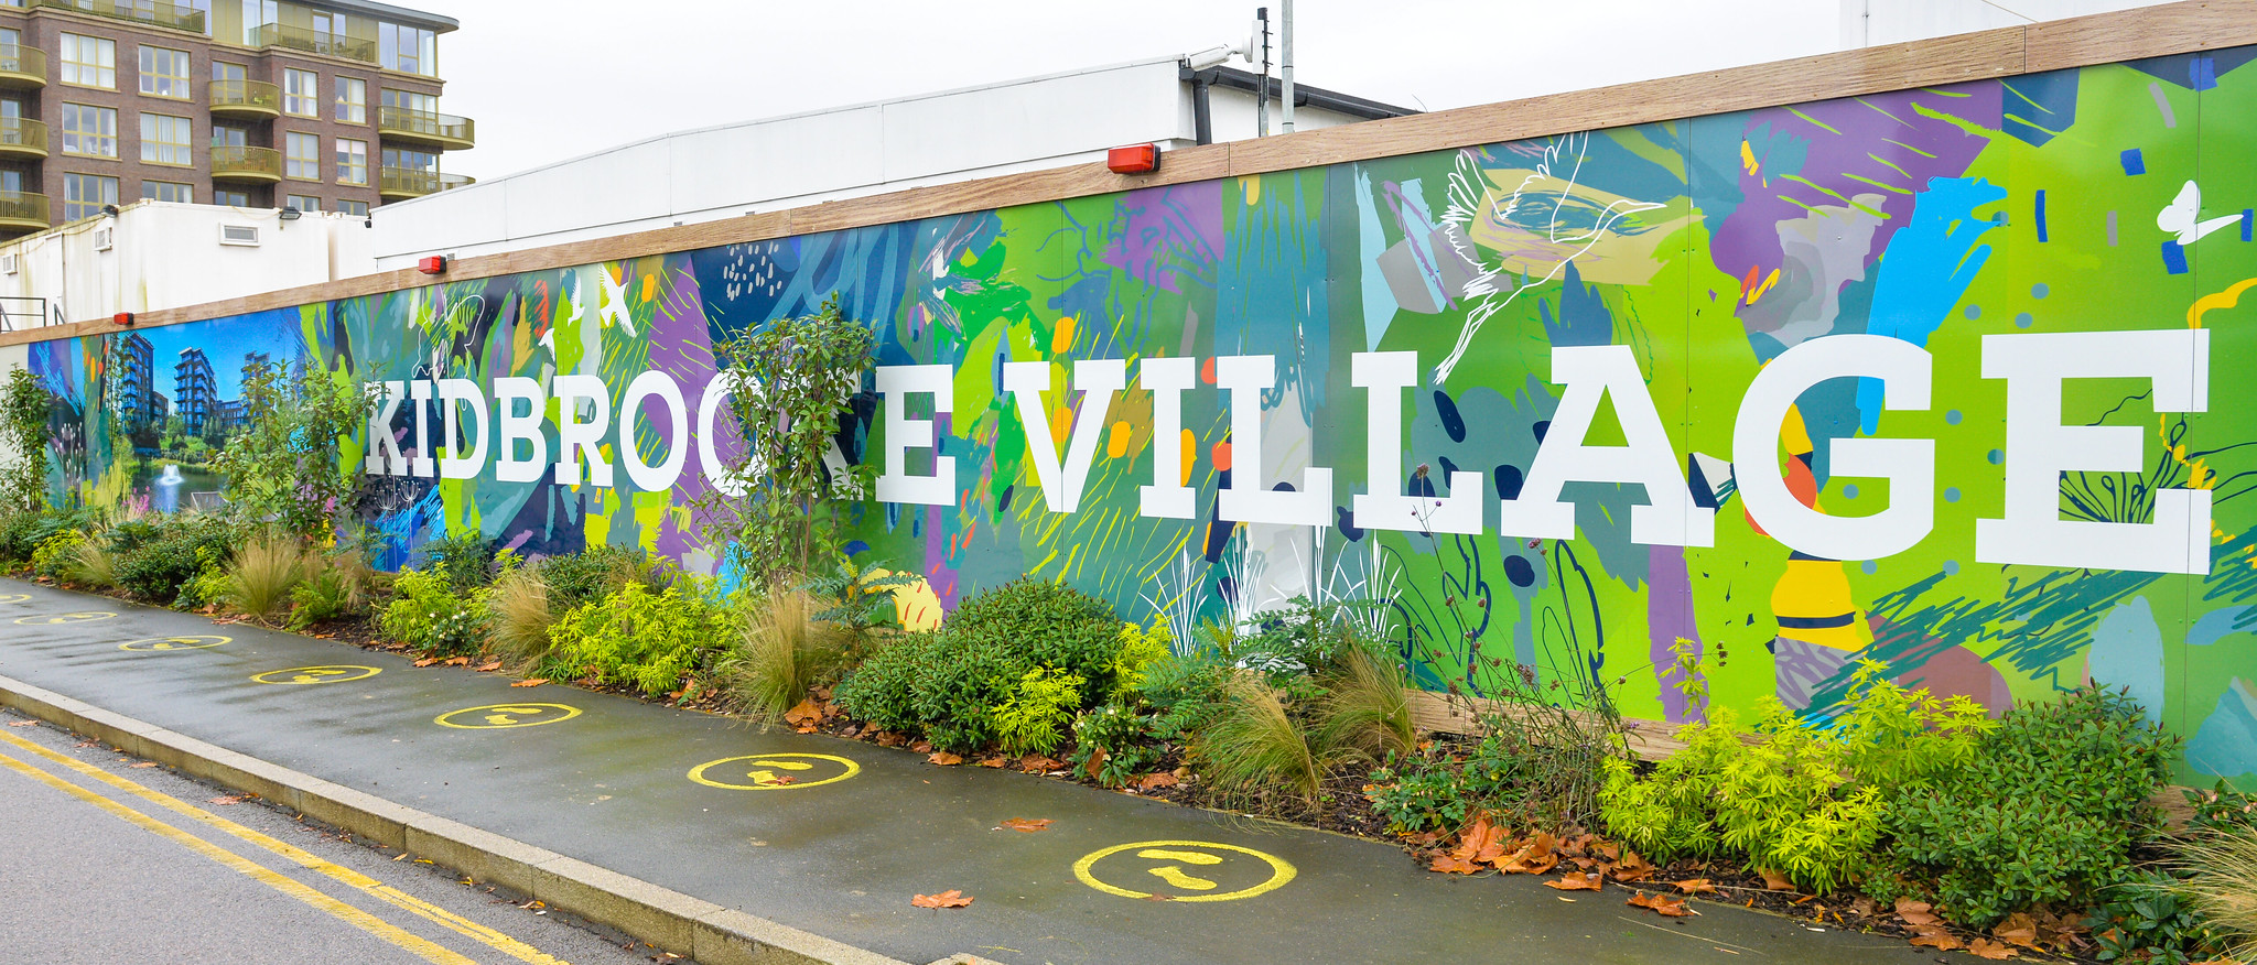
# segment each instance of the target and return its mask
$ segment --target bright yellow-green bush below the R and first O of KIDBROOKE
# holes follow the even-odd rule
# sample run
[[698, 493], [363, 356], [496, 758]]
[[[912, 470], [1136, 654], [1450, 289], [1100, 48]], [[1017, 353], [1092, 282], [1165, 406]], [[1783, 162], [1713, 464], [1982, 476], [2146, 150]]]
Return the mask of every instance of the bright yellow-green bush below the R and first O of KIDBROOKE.
[[[688, 588], [684, 588], [688, 584]], [[682, 676], [704, 667], [727, 634], [729, 611], [706, 600], [695, 579], [652, 593], [625, 584], [598, 602], [564, 613], [548, 629], [546, 676], [594, 676], [666, 697]]]

